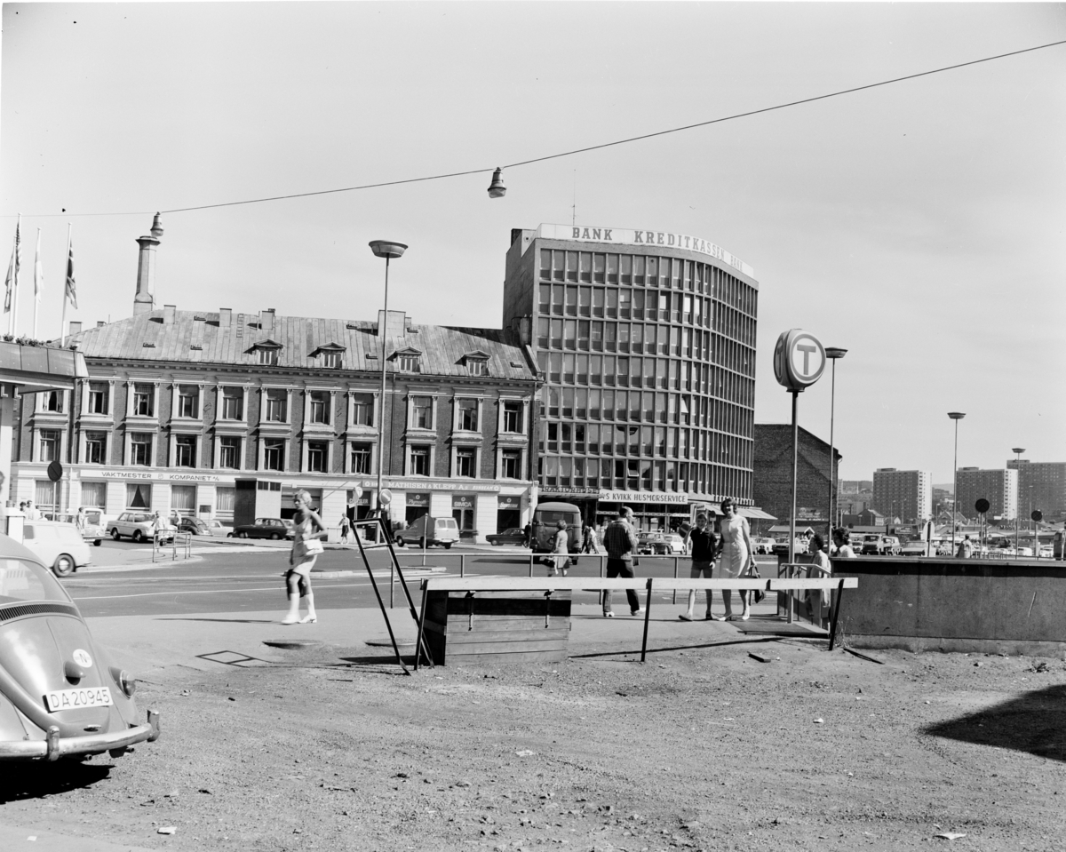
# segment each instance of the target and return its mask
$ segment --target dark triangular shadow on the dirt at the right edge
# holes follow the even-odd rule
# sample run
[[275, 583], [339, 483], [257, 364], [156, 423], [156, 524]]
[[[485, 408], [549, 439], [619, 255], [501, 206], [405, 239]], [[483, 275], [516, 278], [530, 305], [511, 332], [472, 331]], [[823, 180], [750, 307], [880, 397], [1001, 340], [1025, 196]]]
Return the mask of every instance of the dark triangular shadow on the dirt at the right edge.
[[1066, 686], [1030, 692], [987, 710], [932, 725], [924, 733], [1066, 762]]

